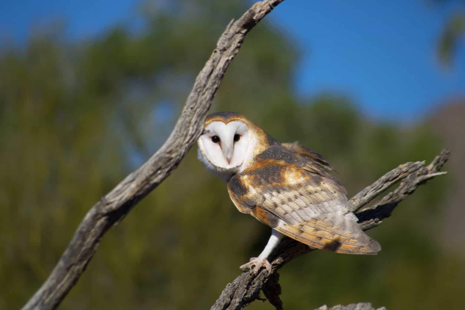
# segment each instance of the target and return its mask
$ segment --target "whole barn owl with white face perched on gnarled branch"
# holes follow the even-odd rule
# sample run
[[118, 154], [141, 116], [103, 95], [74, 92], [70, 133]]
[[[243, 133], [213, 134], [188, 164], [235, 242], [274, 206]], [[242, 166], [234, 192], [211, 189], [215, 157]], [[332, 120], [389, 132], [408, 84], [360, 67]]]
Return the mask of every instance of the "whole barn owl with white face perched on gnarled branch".
[[284, 236], [310, 247], [348, 254], [376, 254], [378, 242], [345, 210], [347, 191], [325, 158], [297, 143], [279, 143], [241, 114], [207, 116], [198, 158], [227, 184], [236, 208], [272, 227], [258, 257], [240, 268], [255, 274]]

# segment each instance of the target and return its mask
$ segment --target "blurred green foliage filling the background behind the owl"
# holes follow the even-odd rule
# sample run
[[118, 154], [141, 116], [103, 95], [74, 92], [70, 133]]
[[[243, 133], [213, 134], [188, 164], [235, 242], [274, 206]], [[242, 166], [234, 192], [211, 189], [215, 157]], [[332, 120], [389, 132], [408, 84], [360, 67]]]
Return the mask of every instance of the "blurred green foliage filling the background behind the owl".
[[[167, 138], [217, 38], [248, 4], [160, 3], [143, 7], [140, 32], [119, 26], [71, 44], [52, 29], [2, 51], [0, 309], [27, 301], [86, 211]], [[243, 113], [276, 139], [322, 153], [349, 195], [401, 163], [431, 160], [443, 146], [426, 126], [370, 120], [340, 94], [297, 99], [298, 59], [292, 40], [261, 22], [228, 69], [212, 112]], [[270, 229], [234, 208], [196, 151], [108, 231], [61, 309], [207, 309], [238, 266], [262, 250]], [[375, 257], [318, 251], [286, 265], [286, 308], [370, 301], [458, 309], [465, 260], [436, 239], [446, 189], [447, 177], [421, 186], [370, 231], [383, 246]]]

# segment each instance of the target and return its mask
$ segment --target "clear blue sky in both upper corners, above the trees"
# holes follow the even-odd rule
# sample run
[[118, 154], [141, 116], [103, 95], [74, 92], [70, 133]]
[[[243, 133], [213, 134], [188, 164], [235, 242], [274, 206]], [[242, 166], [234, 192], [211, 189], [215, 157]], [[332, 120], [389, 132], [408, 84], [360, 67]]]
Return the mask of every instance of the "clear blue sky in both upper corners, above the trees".
[[[465, 42], [452, 70], [441, 68], [434, 54], [459, 2], [432, 7], [427, 0], [286, 0], [266, 19], [302, 52], [294, 80], [299, 96], [342, 92], [372, 118], [409, 123], [444, 99], [465, 95]], [[34, 26], [57, 19], [66, 21], [72, 38], [92, 37], [131, 22], [137, 3], [2, 0], [0, 38], [23, 42]]]

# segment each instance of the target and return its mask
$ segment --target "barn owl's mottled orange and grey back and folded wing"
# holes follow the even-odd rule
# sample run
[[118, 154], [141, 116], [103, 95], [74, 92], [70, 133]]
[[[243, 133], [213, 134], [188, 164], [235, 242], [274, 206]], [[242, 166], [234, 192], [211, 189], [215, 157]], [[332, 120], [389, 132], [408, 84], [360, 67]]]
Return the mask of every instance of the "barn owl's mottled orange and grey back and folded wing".
[[310, 246], [352, 254], [381, 248], [346, 213], [346, 190], [316, 152], [275, 144], [228, 181], [233, 203], [277, 231]]

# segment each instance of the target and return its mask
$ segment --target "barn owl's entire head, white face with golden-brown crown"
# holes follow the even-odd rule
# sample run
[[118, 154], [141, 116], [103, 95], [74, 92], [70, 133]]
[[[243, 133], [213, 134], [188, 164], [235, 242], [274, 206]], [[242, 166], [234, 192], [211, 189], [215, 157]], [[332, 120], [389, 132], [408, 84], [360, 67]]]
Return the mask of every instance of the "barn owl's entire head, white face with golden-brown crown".
[[226, 178], [244, 170], [257, 154], [257, 146], [268, 144], [267, 137], [241, 114], [213, 113], [206, 117], [205, 129], [197, 141], [198, 157], [209, 170]]

